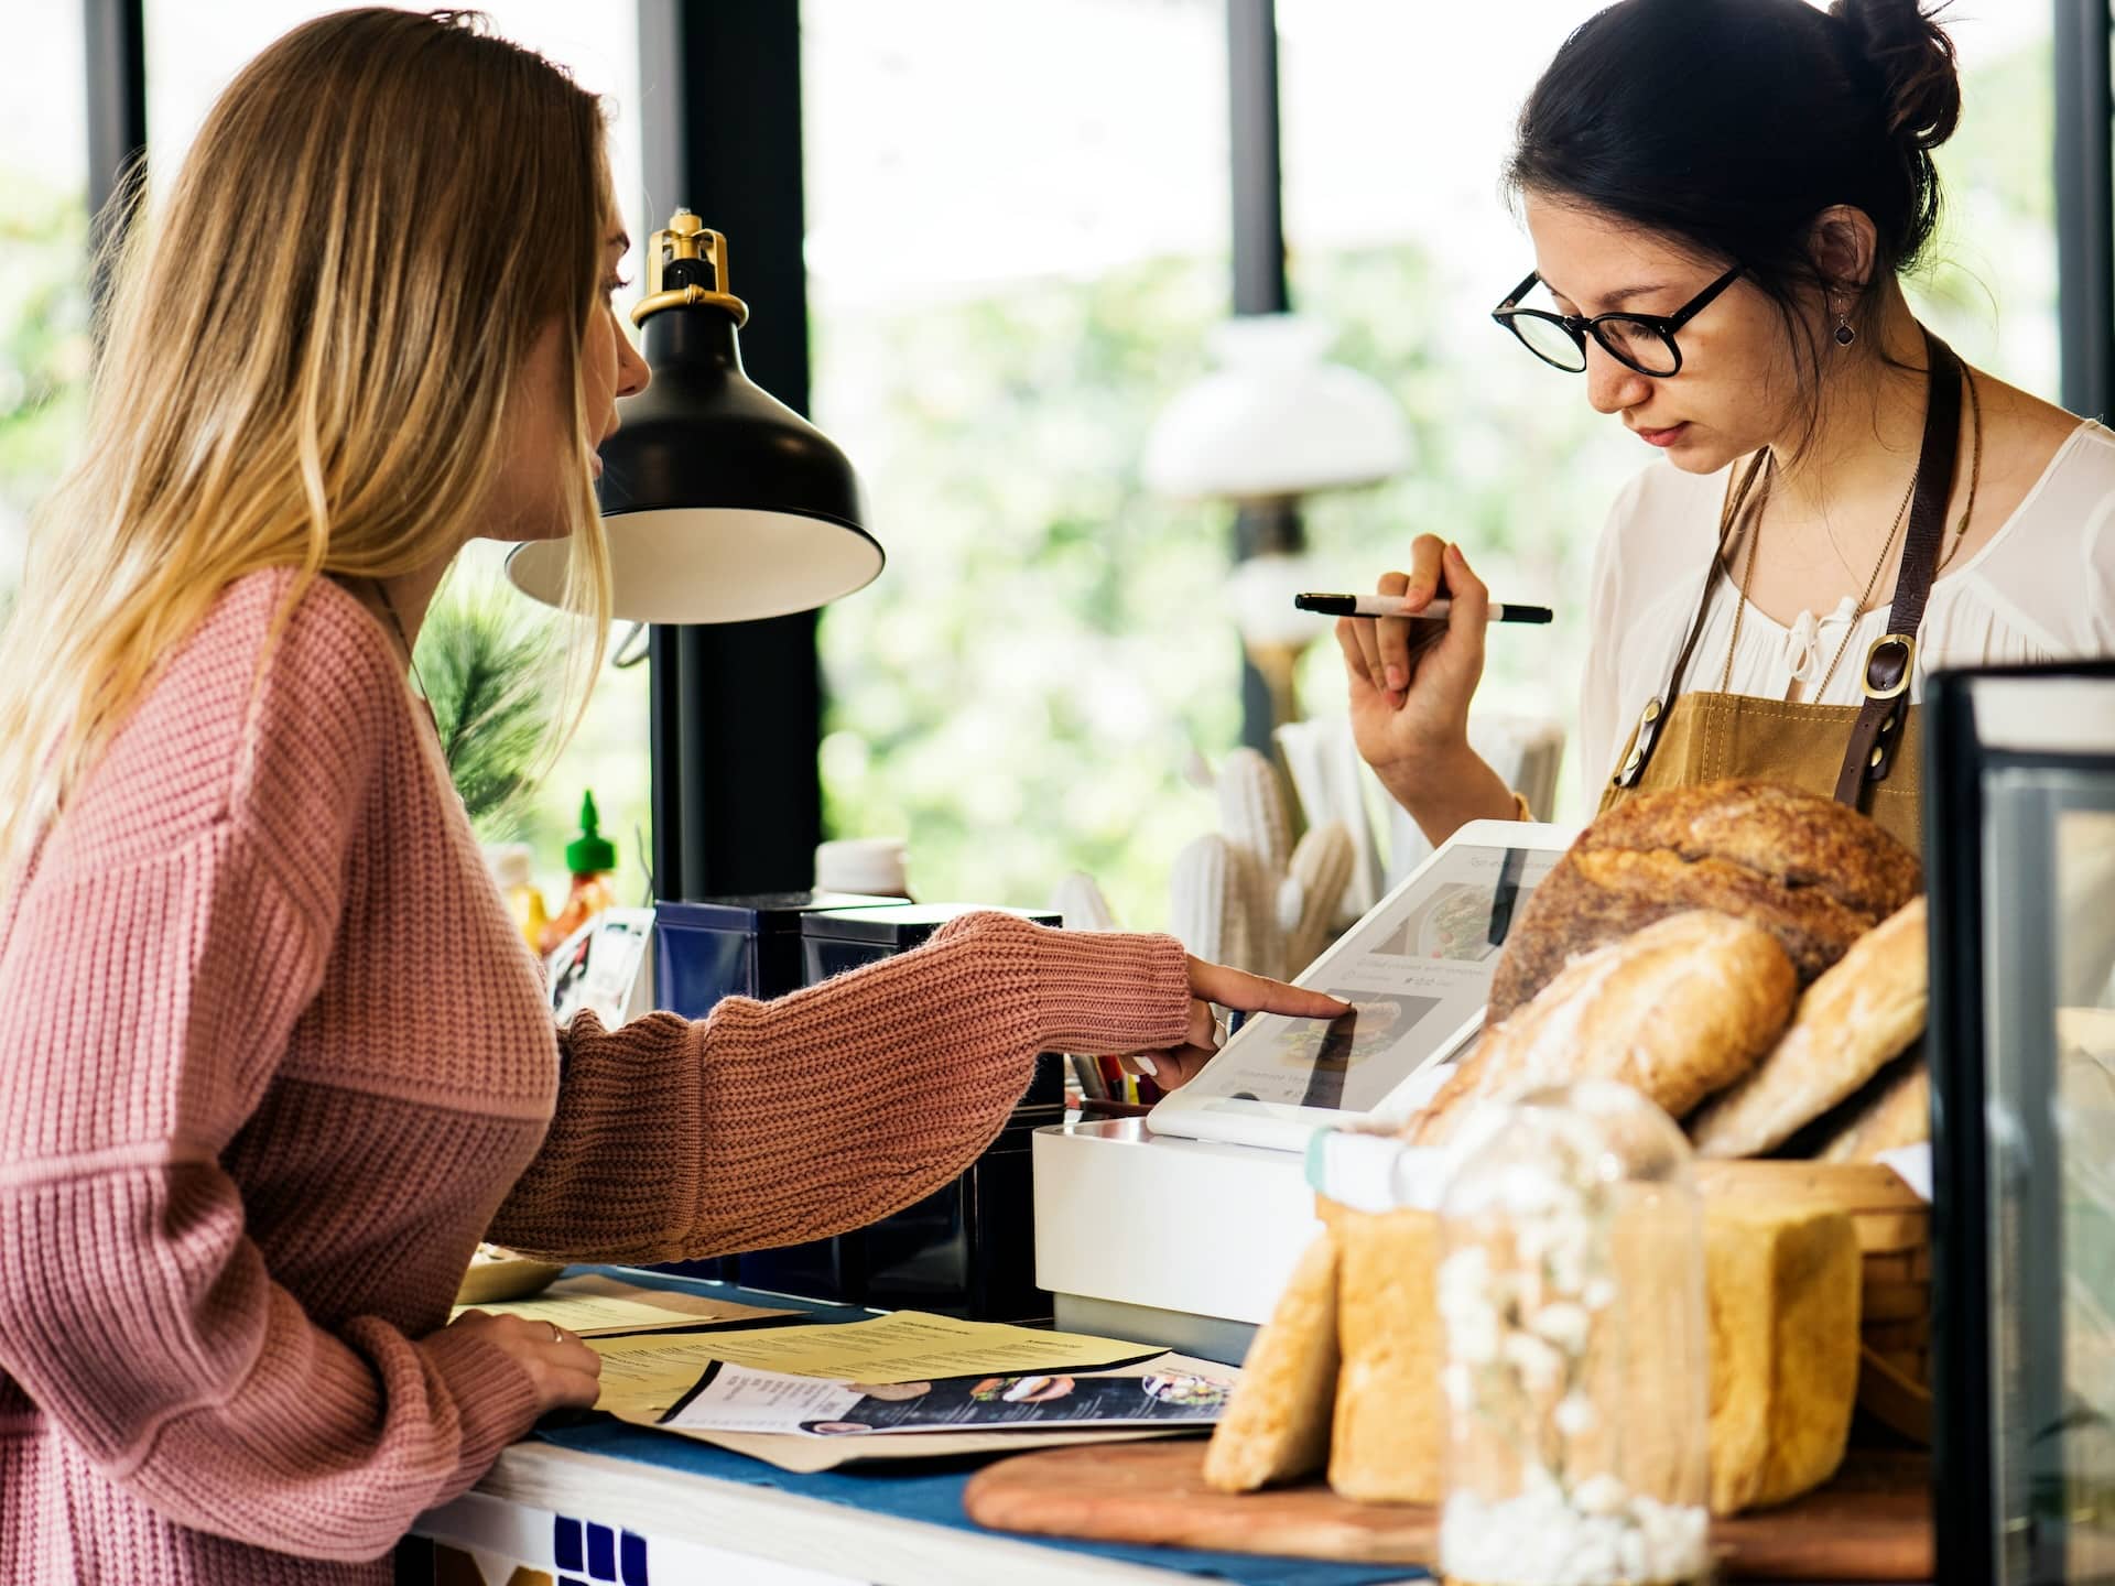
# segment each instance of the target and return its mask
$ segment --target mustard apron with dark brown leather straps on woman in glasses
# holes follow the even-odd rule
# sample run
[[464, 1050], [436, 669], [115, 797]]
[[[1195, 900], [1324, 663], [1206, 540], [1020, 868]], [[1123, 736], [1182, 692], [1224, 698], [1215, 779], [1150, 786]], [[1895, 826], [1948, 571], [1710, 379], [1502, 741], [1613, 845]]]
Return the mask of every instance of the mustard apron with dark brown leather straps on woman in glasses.
[[1741, 522], [1764, 461], [1758, 457], [1719, 527], [1719, 548], [1711, 558], [1688, 641], [1675, 660], [1675, 675], [1631, 727], [1616, 772], [1601, 793], [1601, 810], [1612, 810], [1650, 789], [1696, 787], [1741, 776], [1827, 793], [1870, 814], [1912, 850], [1923, 848], [1920, 732], [1916, 708], [1910, 704], [1910, 677], [1916, 664], [1916, 632], [1937, 571], [1946, 501], [1961, 444], [1961, 364], [1929, 330], [1925, 345], [1931, 355], [1925, 446], [1916, 461], [1910, 527], [1889, 605], [1889, 630], [1865, 651], [1863, 704], [1796, 704], [1749, 694], [1681, 691], [1705, 613], [1711, 609], [1711, 592], [1724, 573], [1732, 531]]

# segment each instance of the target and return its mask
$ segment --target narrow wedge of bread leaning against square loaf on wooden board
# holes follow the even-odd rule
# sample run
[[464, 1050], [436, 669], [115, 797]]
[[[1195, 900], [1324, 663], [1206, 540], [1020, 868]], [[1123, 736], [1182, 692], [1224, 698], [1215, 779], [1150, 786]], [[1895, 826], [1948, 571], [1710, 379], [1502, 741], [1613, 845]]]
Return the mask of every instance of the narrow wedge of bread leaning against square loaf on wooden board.
[[1203, 1455], [1208, 1487], [1254, 1493], [1322, 1470], [1337, 1385], [1337, 1239], [1324, 1231], [1242, 1362], [1242, 1381]]

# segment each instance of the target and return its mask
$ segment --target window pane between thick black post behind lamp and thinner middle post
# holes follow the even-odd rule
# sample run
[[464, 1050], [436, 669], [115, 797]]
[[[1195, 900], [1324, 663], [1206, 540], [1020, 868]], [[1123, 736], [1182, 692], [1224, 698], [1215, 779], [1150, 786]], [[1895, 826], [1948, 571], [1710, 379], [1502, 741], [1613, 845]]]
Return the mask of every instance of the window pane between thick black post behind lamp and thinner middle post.
[[840, 835], [920, 897], [1134, 926], [1239, 730], [1229, 520], [1138, 484], [1227, 313], [1220, 0], [806, 0], [816, 421], [888, 550], [823, 620]]

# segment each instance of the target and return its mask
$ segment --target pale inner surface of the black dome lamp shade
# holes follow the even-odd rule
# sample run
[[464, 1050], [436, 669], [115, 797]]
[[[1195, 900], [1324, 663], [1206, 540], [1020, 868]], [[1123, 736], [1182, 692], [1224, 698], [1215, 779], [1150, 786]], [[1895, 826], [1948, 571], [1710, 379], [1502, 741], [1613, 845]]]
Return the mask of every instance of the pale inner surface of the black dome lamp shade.
[[[658, 508], [603, 518], [611, 615], [622, 622], [753, 622], [812, 611], [863, 590], [882, 548], [827, 518], [755, 508]], [[533, 539], [508, 556], [514, 588], [558, 605], [567, 546]]]

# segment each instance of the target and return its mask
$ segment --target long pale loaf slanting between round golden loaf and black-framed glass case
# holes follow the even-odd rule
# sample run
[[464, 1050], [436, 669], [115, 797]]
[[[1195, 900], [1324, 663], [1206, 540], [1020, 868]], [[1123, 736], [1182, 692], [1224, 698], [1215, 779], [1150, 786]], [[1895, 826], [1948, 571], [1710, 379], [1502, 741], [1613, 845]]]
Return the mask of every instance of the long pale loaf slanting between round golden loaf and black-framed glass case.
[[1859, 937], [1753, 1074], [1690, 1119], [1705, 1157], [1755, 1157], [1853, 1095], [1925, 1030], [1925, 899]]

